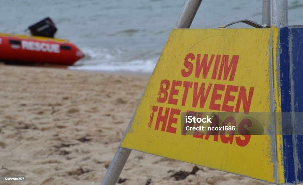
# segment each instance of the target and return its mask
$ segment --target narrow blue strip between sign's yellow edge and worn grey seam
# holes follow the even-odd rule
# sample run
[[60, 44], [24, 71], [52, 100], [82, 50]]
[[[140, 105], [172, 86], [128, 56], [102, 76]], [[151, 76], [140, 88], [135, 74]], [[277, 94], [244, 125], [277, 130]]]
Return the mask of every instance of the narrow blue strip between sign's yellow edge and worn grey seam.
[[283, 153], [284, 153], [284, 174], [286, 183], [295, 183], [295, 166], [293, 157], [292, 135], [289, 127], [291, 116], [291, 94], [290, 94], [290, 68], [289, 68], [289, 53], [288, 53], [288, 36], [289, 29], [284, 27], [280, 29], [280, 80], [281, 80], [281, 110], [282, 110], [282, 128], [283, 128]]

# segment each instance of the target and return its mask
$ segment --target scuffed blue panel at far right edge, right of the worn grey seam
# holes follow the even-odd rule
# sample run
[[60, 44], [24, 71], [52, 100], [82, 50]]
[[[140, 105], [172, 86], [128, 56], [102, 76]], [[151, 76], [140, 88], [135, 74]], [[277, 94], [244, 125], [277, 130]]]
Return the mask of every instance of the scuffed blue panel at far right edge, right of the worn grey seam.
[[[295, 112], [303, 112], [303, 28], [291, 28], [291, 48], [290, 48], [290, 62], [292, 64], [292, 73], [291, 80], [293, 82], [292, 87], [292, 96], [294, 97], [294, 111]], [[296, 118], [299, 118], [299, 114], [295, 114]], [[296, 131], [301, 134], [303, 122], [300, 119], [296, 119], [294, 122]], [[298, 131], [299, 130], [299, 131]], [[293, 144], [295, 145], [295, 160], [298, 166], [295, 166], [297, 169], [297, 183], [303, 182], [303, 135], [294, 135], [293, 136]]]

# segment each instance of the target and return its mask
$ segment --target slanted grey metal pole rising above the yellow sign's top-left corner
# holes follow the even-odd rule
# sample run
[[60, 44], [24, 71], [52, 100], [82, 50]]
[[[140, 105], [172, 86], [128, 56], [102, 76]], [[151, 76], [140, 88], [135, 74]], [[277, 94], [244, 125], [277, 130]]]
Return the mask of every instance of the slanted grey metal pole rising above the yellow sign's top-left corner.
[[187, 0], [175, 28], [189, 28], [202, 0]]

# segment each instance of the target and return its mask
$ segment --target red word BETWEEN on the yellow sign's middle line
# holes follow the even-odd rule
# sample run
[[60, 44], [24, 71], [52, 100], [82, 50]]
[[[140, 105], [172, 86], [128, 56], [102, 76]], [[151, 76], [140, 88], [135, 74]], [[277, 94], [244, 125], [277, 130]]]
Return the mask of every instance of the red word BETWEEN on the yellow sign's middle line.
[[254, 87], [247, 90], [244, 86], [165, 79], [160, 83], [157, 101], [185, 106], [189, 99], [194, 108], [204, 108], [206, 105], [210, 110], [239, 112], [242, 107], [241, 111], [248, 113], [253, 93]]

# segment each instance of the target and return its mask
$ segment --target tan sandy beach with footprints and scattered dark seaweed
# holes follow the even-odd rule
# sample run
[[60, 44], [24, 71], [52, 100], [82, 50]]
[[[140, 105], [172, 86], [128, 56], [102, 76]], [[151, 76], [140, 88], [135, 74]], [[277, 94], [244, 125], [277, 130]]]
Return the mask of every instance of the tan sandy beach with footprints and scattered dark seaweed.
[[[148, 79], [1, 65], [1, 184], [100, 184]], [[117, 184], [268, 183], [132, 151]]]

